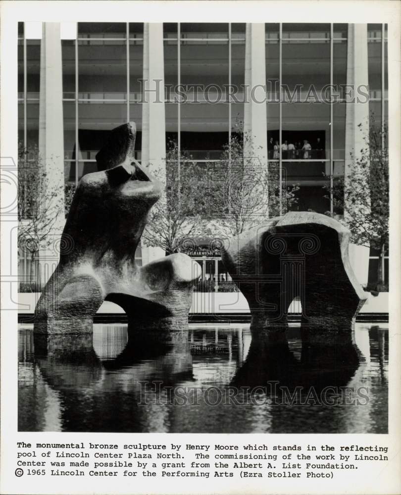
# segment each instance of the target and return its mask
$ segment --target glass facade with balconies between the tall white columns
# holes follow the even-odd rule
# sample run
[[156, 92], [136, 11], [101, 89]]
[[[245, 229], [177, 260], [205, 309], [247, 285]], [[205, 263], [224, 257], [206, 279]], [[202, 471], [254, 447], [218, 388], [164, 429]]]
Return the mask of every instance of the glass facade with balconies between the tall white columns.
[[[344, 175], [346, 159], [347, 24], [265, 24], [267, 158], [283, 187], [296, 184], [298, 210], [332, 212], [324, 186]], [[39, 141], [40, 40], [18, 30], [18, 139]], [[371, 125], [388, 118], [387, 26], [367, 25]], [[64, 177], [74, 188], [97, 170], [107, 133], [137, 126], [141, 160], [142, 23], [77, 23], [61, 40]], [[217, 164], [244, 121], [245, 23], [163, 24], [166, 144], [196, 163]], [[219, 261], [211, 259], [218, 280]], [[216, 265], [216, 263], [217, 265]], [[221, 278], [221, 277], [220, 277]]]

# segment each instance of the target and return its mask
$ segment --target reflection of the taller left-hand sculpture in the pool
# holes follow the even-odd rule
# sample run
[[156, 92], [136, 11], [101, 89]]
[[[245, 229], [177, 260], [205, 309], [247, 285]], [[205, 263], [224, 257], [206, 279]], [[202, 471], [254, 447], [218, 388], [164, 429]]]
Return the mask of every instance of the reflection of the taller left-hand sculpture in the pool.
[[[158, 403], [158, 397], [149, 404], [141, 403], [141, 384], [160, 382], [160, 390], [165, 390], [191, 380], [188, 331], [127, 332], [125, 326], [113, 326], [107, 337], [116, 342], [116, 334], [120, 344], [117, 355], [110, 341], [103, 342], [103, 355], [95, 351], [96, 333], [73, 338], [34, 335], [34, 360], [45, 382], [59, 393], [64, 431], [164, 431], [158, 422], [164, 416], [164, 405]], [[99, 341], [97, 344], [99, 348]]]

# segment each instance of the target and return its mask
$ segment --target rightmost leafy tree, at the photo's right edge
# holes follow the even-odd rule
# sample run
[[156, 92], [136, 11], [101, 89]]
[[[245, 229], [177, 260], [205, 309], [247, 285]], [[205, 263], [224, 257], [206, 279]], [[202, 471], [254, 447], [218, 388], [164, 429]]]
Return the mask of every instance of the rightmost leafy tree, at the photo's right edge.
[[[330, 191], [330, 187], [326, 190]], [[378, 129], [373, 115], [363, 148], [359, 153], [351, 154], [348, 171], [344, 177], [335, 178], [331, 192], [333, 209], [343, 213], [339, 220], [350, 229], [351, 242], [380, 251], [376, 289], [386, 290], [384, 257], [389, 243], [387, 127]]]

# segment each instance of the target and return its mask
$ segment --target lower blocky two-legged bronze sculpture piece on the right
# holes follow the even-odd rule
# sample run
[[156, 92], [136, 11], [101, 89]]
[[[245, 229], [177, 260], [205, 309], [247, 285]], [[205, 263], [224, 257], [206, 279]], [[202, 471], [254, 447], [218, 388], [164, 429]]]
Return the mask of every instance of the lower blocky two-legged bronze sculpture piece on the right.
[[348, 259], [349, 235], [326, 215], [290, 212], [227, 241], [222, 260], [249, 303], [251, 329], [284, 328], [295, 297], [305, 327], [350, 329], [366, 297]]

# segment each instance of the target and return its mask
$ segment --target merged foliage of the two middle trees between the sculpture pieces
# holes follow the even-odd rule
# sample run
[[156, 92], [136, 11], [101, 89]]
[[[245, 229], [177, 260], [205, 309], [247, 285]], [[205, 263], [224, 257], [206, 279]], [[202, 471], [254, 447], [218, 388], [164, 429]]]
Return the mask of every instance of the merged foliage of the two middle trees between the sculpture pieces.
[[[142, 240], [167, 254], [180, 251], [189, 237], [234, 236], [280, 212], [278, 163], [269, 169], [260, 163], [242, 123], [217, 162], [196, 163], [187, 151], [179, 156], [177, 143], [170, 141], [166, 176], [154, 175], [166, 194], [151, 209]], [[282, 213], [297, 203], [297, 189], [282, 187]]]

